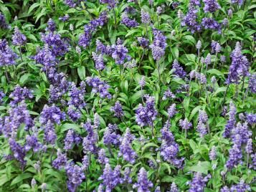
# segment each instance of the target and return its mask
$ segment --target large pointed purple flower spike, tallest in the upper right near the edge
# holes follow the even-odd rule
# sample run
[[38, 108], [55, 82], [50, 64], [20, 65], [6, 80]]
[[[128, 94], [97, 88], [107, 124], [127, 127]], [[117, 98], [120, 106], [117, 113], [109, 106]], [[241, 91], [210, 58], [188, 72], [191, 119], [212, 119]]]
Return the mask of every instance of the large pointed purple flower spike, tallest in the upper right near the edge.
[[237, 42], [235, 49], [230, 54], [232, 63], [229, 67], [229, 74], [227, 77], [227, 83], [238, 84], [240, 82], [240, 76], [246, 77], [249, 75], [249, 61], [242, 55], [242, 47]]

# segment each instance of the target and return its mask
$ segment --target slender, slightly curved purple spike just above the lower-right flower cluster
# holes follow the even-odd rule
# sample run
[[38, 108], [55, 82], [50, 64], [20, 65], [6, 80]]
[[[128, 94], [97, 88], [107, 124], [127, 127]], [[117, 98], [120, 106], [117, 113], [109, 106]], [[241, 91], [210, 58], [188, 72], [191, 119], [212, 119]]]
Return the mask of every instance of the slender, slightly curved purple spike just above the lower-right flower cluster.
[[232, 128], [234, 128], [234, 125], [236, 123], [235, 115], [237, 114], [237, 108], [234, 106], [233, 102], [230, 102], [229, 104], [229, 120], [227, 121], [227, 124], [225, 125], [225, 130], [223, 133], [224, 138], [229, 138], [231, 134]]

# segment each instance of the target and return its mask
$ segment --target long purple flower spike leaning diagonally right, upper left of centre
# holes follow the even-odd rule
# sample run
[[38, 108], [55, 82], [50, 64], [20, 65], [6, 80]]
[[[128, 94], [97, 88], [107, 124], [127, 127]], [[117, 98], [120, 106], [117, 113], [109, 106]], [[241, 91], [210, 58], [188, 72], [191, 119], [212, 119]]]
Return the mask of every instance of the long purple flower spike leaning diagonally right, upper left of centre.
[[108, 21], [108, 14], [106, 11], [103, 11], [102, 13], [100, 13], [100, 16], [98, 17], [98, 19], [94, 19], [85, 25], [85, 29], [84, 29], [85, 33], [79, 37], [78, 44], [84, 48], [89, 46], [93, 37], [93, 33], [97, 30], [98, 27], [102, 27], [104, 24], [106, 24], [107, 21]]

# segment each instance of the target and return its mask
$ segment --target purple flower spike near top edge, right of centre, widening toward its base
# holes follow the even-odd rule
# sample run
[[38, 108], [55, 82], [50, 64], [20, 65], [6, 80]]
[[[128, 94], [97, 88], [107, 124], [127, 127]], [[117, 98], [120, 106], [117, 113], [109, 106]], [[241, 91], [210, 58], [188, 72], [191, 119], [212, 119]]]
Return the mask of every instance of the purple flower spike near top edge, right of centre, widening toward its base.
[[189, 11], [184, 18], [181, 18], [181, 26], [188, 27], [188, 30], [194, 34], [194, 32], [201, 31], [201, 25], [196, 21], [198, 10], [194, 6], [189, 6]]

